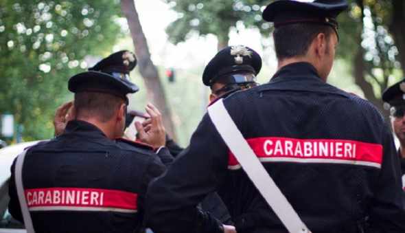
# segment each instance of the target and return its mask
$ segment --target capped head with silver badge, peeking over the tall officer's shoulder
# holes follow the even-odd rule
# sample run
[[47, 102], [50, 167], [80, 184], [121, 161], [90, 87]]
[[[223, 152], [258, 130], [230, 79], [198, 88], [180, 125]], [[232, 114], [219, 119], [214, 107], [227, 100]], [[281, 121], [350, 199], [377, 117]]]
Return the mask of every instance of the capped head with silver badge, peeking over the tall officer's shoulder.
[[225, 98], [242, 89], [256, 87], [256, 76], [262, 68], [262, 58], [244, 45], [225, 47], [205, 67], [203, 83], [209, 86], [209, 102]]

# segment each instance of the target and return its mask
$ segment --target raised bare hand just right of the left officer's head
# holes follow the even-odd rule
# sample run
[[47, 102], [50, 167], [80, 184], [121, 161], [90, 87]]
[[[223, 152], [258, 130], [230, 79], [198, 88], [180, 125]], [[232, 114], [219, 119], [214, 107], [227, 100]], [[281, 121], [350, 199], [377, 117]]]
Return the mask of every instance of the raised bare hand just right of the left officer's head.
[[144, 122], [135, 122], [138, 131], [138, 140], [150, 144], [153, 148], [159, 148], [166, 144], [165, 127], [162, 115], [153, 104], [146, 105], [146, 113], [150, 118]]

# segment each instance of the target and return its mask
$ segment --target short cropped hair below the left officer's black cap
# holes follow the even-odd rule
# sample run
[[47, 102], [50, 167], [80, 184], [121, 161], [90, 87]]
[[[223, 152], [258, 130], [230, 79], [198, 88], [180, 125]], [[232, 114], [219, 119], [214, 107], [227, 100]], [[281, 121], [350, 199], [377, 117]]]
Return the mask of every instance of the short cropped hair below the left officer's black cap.
[[97, 118], [107, 122], [113, 118], [115, 111], [124, 103], [122, 98], [109, 93], [79, 92], [75, 93], [76, 117]]

